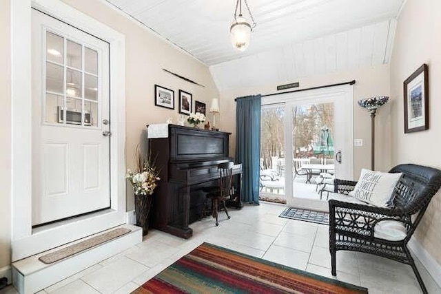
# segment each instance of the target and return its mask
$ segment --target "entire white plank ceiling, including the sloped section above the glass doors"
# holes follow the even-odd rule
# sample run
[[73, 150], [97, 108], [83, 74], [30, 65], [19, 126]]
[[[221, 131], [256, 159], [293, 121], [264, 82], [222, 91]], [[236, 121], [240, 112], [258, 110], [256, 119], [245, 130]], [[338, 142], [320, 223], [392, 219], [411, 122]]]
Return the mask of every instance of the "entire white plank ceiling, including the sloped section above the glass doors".
[[229, 38], [236, 0], [106, 1], [208, 65], [226, 90], [387, 63], [406, 0], [247, 0], [257, 26], [245, 52]]

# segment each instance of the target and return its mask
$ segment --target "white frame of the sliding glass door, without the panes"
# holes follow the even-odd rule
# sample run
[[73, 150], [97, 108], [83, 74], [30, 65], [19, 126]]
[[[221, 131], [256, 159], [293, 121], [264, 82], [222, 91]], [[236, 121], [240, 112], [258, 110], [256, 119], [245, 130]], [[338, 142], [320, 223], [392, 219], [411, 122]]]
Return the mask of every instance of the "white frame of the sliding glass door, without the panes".
[[[321, 89], [306, 90], [301, 92], [292, 92], [287, 94], [280, 94], [277, 96], [264, 97], [262, 99], [262, 105], [272, 103], [285, 103], [285, 126], [292, 125], [292, 105], [298, 103], [317, 103], [322, 98], [331, 96], [341, 96], [347, 102], [345, 104], [345, 121], [353, 122], [353, 85], [339, 85], [335, 87], [325, 87]], [[311, 100], [314, 99], [314, 100]], [[347, 132], [350, 134], [345, 144], [350, 144], [351, 148], [345, 153], [345, 158], [349, 158], [349, 162], [345, 162], [345, 165], [351, 169], [353, 175], [353, 123], [345, 125]], [[287, 198], [287, 207], [299, 207], [327, 211], [328, 204], [325, 201], [318, 202], [316, 200], [309, 200], [305, 198], [294, 198], [293, 196], [293, 168], [292, 165], [287, 165], [287, 162], [293, 162], [292, 158], [292, 131], [289, 127], [285, 127], [285, 146], [287, 146], [285, 152], [285, 197]]]

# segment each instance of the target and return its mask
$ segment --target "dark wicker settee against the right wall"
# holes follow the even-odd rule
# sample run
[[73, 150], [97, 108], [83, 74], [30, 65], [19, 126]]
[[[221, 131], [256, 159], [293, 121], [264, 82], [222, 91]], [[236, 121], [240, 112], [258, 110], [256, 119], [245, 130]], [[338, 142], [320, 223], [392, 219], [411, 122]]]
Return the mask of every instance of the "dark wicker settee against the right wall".
[[[441, 171], [420, 165], [398, 165], [390, 173], [402, 173], [395, 190], [393, 207], [383, 208], [367, 204], [329, 200], [329, 251], [332, 275], [336, 275], [336, 251], [351, 250], [371, 253], [409, 264], [420, 283], [423, 293], [427, 289], [407, 248], [413, 232], [420, 223], [433, 195], [441, 186]], [[334, 180], [335, 193], [349, 193], [356, 182]], [[404, 224], [405, 238], [385, 240], [378, 238], [374, 227], [383, 220], [396, 220]]]

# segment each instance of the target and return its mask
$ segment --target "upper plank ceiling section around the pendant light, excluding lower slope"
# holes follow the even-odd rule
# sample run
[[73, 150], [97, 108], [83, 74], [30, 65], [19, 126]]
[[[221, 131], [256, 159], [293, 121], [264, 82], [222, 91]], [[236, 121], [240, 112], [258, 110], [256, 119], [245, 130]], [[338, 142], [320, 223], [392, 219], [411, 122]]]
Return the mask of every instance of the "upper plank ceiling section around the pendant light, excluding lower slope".
[[234, 49], [229, 39], [236, 0], [107, 1], [203, 63], [215, 65], [393, 19], [405, 0], [247, 0], [257, 27], [245, 52]]

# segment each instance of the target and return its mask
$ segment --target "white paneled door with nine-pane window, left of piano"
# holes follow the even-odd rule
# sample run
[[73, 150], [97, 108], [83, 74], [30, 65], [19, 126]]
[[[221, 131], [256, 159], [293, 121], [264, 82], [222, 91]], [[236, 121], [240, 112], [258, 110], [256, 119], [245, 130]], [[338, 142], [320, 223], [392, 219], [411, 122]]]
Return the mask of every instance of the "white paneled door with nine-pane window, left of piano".
[[109, 44], [32, 10], [32, 225], [110, 207]]

